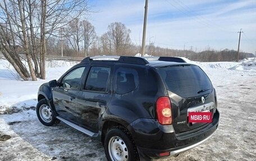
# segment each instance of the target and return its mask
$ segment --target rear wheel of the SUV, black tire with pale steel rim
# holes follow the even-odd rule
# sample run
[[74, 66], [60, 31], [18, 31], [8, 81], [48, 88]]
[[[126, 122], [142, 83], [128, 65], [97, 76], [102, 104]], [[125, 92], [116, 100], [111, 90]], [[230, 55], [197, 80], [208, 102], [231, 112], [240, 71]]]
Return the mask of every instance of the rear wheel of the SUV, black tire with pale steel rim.
[[120, 126], [108, 130], [104, 139], [104, 150], [108, 161], [140, 160], [131, 134]]

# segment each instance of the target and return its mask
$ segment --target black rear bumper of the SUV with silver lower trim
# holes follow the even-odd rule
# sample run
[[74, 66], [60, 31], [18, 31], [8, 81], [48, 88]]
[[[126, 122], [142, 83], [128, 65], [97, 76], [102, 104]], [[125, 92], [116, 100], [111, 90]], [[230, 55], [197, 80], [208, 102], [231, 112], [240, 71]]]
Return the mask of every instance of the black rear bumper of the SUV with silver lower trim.
[[[134, 137], [140, 155], [156, 159], [162, 157], [159, 155], [161, 153], [170, 153], [170, 155], [165, 157], [171, 157], [207, 141], [213, 135], [214, 131], [216, 131], [219, 117], [220, 114], [216, 110], [212, 123], [208, 123], [203, 128], [200, 128], [200, 130], [186, 135], [176, 135], [172, 126], [169, 126], [167, 129], [158, 126], [157, 129], [155, 128], [153, 130], [155, 132], [148, 131], [148, 134], [145, 134], [141, 131], [139, 133], [138, 131], [134, 133], [134, 131], [132, 132], [132, 136]], [[150, 125], [150, 127], [151, 126], [152, 125]], [[150, 132], [152, 134], [150, 134]]]

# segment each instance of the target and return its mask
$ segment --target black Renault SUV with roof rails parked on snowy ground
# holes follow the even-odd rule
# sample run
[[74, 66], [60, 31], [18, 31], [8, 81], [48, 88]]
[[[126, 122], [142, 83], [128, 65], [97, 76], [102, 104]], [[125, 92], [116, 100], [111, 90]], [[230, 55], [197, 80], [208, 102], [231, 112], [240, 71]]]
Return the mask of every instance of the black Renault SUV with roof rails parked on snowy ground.
[[[188, 112], [209, 111], [211, 123]], [[38, 119], [103, 142], [108, 160], [179, 155], [209, 139], [218, 126], [216, 91], [203, 70], [176, 57], [87, 57], [58, 81], [40, 86]]]

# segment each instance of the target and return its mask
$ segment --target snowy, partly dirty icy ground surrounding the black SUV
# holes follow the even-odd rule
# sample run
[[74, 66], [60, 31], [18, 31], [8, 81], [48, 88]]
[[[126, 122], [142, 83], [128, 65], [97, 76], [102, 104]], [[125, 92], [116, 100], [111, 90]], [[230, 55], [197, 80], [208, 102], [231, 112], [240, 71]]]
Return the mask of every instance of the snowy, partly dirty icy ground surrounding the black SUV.
[[[217, 90], [221, 113], [211, 139], [177, 158], [163, 160], [256, 160], [256, 61], [195, 63]], [[102, 144], [60, 123], [43, 126], [36, 94], [77, 62], [48, 61], [47, 80], [20, 81], [0, 59], [0, 160], [106, 160]]]

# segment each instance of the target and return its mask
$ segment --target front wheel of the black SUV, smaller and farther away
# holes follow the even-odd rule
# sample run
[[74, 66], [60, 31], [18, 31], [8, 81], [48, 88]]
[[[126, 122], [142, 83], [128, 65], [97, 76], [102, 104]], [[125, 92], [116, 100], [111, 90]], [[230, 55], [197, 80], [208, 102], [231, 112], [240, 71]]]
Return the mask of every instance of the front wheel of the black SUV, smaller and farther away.
[[60, 121], [54, 116], [51, 106], [49, 106], [47, 99], [39, 100], [36, 104], [36, 115], [39, 121], [45, 126], [53, 126]]

